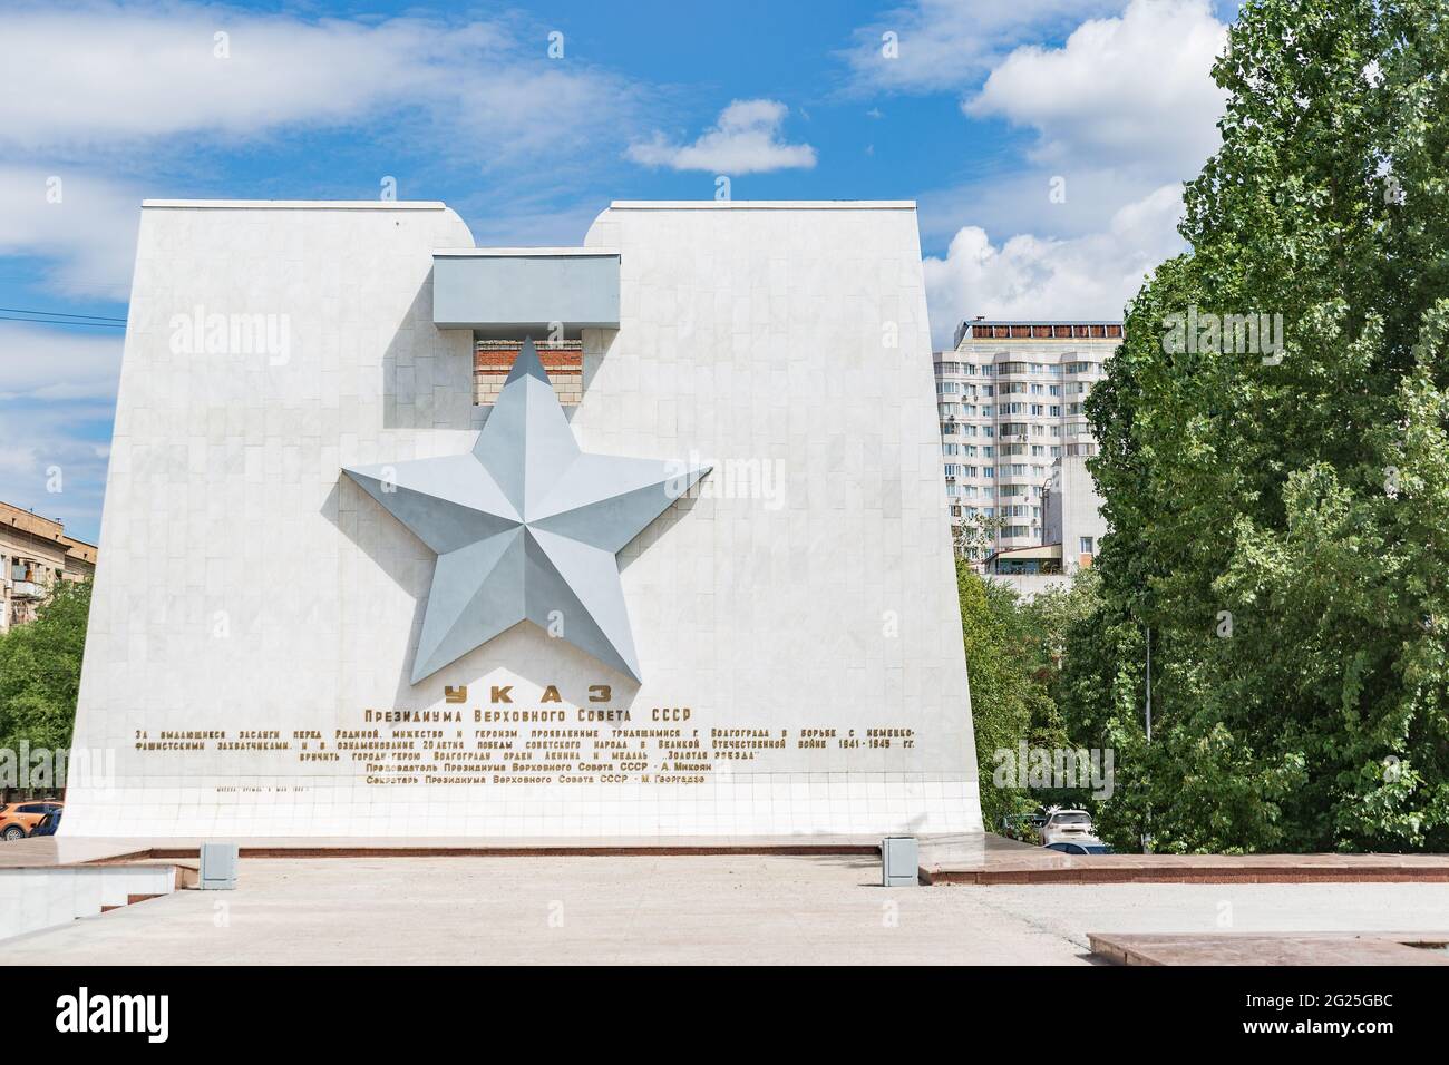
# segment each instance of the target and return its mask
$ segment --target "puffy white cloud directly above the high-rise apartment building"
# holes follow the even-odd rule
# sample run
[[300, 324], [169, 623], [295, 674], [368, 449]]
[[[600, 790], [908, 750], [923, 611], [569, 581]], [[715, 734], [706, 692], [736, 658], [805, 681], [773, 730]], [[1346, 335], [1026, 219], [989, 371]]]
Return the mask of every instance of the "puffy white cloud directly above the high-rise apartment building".
[[1000, 246], [965, 226], [946, 256], [926, 258], [932, 336], [951, 346], [956, 325], [985, 314], [1006, 319], [1113, 319], [1148, 272], [1182, 251], [1178, 185], [1164, 185], [1113, 216], [1106, 232], [1069, 239], [1019, 235]]

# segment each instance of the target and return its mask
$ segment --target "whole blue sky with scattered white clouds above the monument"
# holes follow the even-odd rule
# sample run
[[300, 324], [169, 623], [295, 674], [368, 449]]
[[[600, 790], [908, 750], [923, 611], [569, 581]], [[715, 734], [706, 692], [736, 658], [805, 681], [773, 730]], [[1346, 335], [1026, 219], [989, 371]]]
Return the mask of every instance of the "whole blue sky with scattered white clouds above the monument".
[[[391, 177], [480, 245], [549, 245], [727, 175], [735, 200], [917, 200], [938, 345], [968, 314], [1113, 317], [1179, 249], [1232, 12], [22, 0], [0, 12], [0, 307], [123, 317], [142, 199]], [[0, 500], [83, 539], [120, 351], [119, 329], [0, 320]]]

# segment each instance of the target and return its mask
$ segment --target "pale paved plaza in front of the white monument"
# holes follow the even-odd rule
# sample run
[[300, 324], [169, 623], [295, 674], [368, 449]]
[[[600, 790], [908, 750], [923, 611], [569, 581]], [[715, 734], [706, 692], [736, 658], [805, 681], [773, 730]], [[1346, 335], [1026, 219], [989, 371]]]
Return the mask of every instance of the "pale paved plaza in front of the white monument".
[[1042, 964], [1088, 932], [1449, 933], [1443, 884], [880, 887], [867, 856], [254, 858], [0, 965]]

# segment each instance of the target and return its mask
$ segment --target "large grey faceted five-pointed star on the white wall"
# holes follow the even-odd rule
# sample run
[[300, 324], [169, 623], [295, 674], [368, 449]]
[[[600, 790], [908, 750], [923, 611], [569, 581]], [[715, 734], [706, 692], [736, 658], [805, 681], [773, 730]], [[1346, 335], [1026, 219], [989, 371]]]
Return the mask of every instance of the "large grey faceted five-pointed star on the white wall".
[[523, 620], [642, 680], [617, 555], [709, 471], [581, 452], [532, 341], [472, 452], [343, 468], [438, 554], [413, 684]]

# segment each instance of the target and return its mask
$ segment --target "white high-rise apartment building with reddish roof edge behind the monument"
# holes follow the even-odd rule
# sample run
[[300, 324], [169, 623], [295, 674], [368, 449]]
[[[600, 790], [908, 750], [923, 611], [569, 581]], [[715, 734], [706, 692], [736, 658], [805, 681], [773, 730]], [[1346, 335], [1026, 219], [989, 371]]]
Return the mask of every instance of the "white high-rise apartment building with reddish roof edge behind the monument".
[[1052, 464], [1097, 451], [1082, 403], [1122, 343], [1120, 322], [997, 322], [956, 329], [936, 352], [942, 472], [952, 525], [988, 519], [975, 562], [1043, 542], [1042, 493]]

